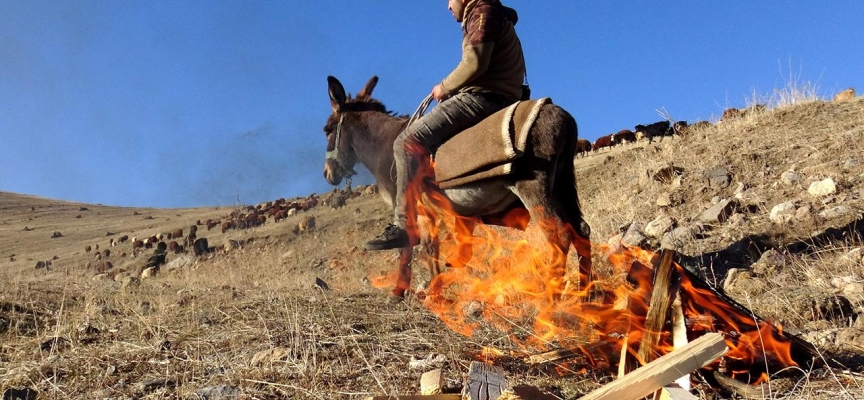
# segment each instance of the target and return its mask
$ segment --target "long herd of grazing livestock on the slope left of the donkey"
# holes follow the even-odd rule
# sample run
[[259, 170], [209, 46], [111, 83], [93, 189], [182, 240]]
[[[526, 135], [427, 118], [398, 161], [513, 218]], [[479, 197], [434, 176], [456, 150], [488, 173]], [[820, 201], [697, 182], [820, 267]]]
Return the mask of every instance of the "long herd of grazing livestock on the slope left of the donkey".
[[[206, 237], [199, 237], [199, 234], [203, 235], [204, 229], [207, 231], [214, 228], [221, 229], [221, 233], [225, 233], [232, 229], [259, 227], [264, 225], [268, 219], [272, 219], [274, 223], [279, 223], [298, 213], [307, 212], [319, 206], [338, 209], [344, 207], [348, 199], [377, 193], [377, 185], [363, 185], [355, 189], [334, 189], [322, 196], [313, 193], [306, 198], [292, 201], [280, 198], [257, 206], [245, 206], [235, 209], [219, 219], [197, 220], [194, 224], [184, 228], [154, 233], [145, 237], [121, 235], [115, 238], [113, 237], [115, 236], [114, 233], [109, 233], [112, 238], [101, 250], [99, 244], [84, 246], [85, 254], [93, 254], [92, 261], [87, 262], [86, 268], [95, 270], [97, 274], [106, 273], [114, 267], [111, 262], [112, 257], [136, 258], [153, 249], [147, 257], [147, 261], [143, 263], [143, 266], [140, 266], [138, 271], [140, 274], [145, 274], [144, 271], [147, 271], [146, 274], [152, 275], [159, 272], [159, 268], [165, 264], [168, 254], [184, 254], [190, 251], [187, 249], [191, 249], [191, 252], [196, 256], [216, 252], [219, 247], [211, 246]], [[303, 233], [314, 229], [314, 216], [306, 215], [299, 218], [299, 222], [291, 231]], [[55, 232], [54, 236], [60, 236], [59, 232]], [[55, 257], [54, 260], [56, 259]], [[10, 260], [14, 261], [14, 258]], [[51, 261], [39, 261], [35, 268], [50, 270], [51, 265]]]

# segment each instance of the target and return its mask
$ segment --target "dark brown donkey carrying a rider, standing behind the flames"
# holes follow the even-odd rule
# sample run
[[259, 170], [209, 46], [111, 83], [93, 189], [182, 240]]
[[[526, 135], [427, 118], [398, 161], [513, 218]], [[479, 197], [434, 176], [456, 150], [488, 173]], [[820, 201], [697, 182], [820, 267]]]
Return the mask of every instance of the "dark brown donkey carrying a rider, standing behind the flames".
[[[353, 168], [359, 162], [372, 173], [379, 193], [392, 206], [396, 193], [393, 142], [406, 128], [408, 118], [394, 115], [383, 103], [372, 98], [377, 76], [373, 76], [354, 98], [346, 95], [338, 79], [328, 76], [327, 83], [333, 112], [324, 126], [327, 136], [324, 178], [331, 185], [339, 185], [343, 178], [354, 174]], [[550, 265], [553, 275], [563, 277], [566, 255], [572, 244], [580, 257], [580, 279], [590, 279], [590, 227], [582, 218], [573, 165], [576, 121], [561, 107], [548, 103], [541, 108], [537, 123], [528, 135], [525, 154], [514, 162], [513, 173], [440, 192], [452, 203], [453, 210], [466, 217], [459, 219], [457, 229], [468, 235], [480, 220], [503, 224], [504, 219], [494, 218], [512, 210], [527, 210], [528, 226], [516, 228], [542, 230], [545, 240], [564, 256], [553, 258], [558, 260], [556, 263], [565, 264]], [[414, 204], [410, 197], [408, 204], [409, 208]], [[409, 210], [411, 239], [408, 247], [401, 250], [398, 279], [392, 291], [397, 297], [404, 296], [411, 284], [412, 248], [419, 243], [412, 224]], [[435, 238], [432, 240], [437, 243]], [[458, 250], [459, 257], [467, 254], [470, 258], [470, 249]]]

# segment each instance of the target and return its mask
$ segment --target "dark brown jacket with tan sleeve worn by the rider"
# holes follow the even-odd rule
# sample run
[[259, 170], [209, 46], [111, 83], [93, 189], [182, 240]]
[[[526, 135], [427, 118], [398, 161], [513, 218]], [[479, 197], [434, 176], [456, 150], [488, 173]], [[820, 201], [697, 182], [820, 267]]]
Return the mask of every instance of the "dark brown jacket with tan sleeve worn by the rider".
[[525, 78], [518, 16], [499, 0], [469, 0], [462, 19], [462, 60], [441, 82], [448, 95], [496, 93], [519, 100]]

